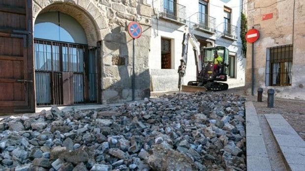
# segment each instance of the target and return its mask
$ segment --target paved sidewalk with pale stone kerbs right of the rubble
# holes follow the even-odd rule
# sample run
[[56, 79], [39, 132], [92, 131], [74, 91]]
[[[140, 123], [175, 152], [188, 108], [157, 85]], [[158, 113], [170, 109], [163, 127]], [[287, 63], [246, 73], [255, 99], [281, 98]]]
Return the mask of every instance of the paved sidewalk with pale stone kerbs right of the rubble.
[[[263, 102], [257, 102], [256, 96], [244, 97], [247, 100], [245, 110], [248, 171], [258, 168], [260, 171], [305, 171], [305, 101], [275, 98], [274, 108], [268, 108], [267, 98], [263, 98]], [[251, 132], [254, 127], [251, 124], [257, 123], [257, 120], [260, 127], [255, 132], [259, 133], [253, 139]], [[263, 142], [258, 141], [260, 135]], [[255, 151], [252, 149], [254, 146]], [[258, 153], [259, 151], [262, 153]], [[262, 161], [265, 152], [269, 162]], [[264, 168], [261, 168], [263, 166]]]

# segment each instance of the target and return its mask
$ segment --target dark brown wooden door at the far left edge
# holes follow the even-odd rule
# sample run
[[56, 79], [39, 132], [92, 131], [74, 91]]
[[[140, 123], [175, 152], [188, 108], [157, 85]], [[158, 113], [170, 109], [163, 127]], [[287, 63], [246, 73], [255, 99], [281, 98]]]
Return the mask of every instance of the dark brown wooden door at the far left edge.
[[0, 0], [0, 115], [34, 112], [31, 0]]

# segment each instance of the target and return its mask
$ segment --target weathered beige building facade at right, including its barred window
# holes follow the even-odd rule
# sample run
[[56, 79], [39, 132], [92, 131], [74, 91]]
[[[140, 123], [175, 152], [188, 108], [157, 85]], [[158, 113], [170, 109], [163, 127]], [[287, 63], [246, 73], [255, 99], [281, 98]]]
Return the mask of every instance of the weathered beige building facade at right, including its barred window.
[[[274, 89], [275, 97], [305, 100], [304, 0], [248, 0], [248, 28], [259, 30], [254, 43], [254, 94]], [[252, 45], [247, 44], [245, 91], [252, 88]]]

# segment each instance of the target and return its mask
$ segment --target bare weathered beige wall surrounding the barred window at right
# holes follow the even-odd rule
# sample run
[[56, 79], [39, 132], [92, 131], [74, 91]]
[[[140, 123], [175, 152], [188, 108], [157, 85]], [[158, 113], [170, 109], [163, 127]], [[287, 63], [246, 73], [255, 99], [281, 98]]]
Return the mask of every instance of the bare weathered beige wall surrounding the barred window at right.
[[[273, 18], [262, 20], [263, 15], [268, 13], [273, 13]], [[262, 87], [264, 96], [267, 96], [267, 90], [273, 88], [275, 97], [304, 100], [305, 11], [303, 0], [295, 0], [295, 4], [293, 1], [248, 0], [247, 16], [249, 29], [254, 26], [260, 31], [260, 38], [254, 43], [254, 94], [257, 94], [258, 87]], [[269, 68], [266, 65], [267, 49], [290, 44], [293, 44], [292, 85], [266, 86], [266, 68]], [[247, 94], [251, 94], [251, 47], [248, 43], [245, 74]]]

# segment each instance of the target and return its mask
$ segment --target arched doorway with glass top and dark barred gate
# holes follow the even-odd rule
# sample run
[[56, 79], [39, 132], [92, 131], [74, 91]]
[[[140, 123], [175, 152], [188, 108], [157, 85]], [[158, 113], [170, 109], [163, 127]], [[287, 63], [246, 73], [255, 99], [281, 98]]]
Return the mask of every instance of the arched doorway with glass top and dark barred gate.
[[47, 11], [36, 17], [33, 36], [36, 105], [97, 102], [98, 49], [81, 24]]

